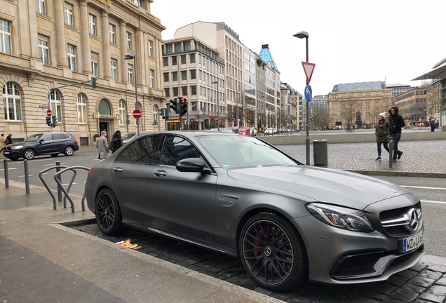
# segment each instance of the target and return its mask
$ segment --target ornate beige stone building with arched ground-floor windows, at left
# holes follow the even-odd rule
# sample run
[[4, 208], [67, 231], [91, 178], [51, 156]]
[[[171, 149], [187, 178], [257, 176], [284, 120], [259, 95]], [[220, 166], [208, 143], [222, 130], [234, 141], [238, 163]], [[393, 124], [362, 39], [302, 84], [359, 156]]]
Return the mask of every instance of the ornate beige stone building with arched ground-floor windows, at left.
[[101, 130], [135, 131], [137, 106], [141, 131], [163, 130], [165, 27], [150, 2], [0, 0], [0, 129], [16, 139], [48, 131], [49, 107], [54, 130], [92, 144]]

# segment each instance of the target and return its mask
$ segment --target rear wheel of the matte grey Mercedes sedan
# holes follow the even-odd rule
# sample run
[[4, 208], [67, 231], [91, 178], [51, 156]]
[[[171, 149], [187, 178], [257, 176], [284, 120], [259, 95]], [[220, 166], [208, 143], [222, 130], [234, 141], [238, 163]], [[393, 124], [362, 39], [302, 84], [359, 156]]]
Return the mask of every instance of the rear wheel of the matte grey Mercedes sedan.
[[113, 191], [108, 188], [101, 189], [96, 196], [95, 215], [97, 227], [102, 234], [112, 236], [122, 228], [122, 215], [118, 200]]

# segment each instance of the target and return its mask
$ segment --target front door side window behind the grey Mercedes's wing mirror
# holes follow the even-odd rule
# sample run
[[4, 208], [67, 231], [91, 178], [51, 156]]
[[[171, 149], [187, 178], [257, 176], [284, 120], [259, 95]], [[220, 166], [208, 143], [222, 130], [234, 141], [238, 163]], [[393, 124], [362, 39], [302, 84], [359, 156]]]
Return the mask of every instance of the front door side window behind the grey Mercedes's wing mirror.
[[165, 138], [161, 152], [161, 164], [176, 166], [177, 162], [186, 158], [198, 158], [198, 149], [183, 137], [169, 135]]

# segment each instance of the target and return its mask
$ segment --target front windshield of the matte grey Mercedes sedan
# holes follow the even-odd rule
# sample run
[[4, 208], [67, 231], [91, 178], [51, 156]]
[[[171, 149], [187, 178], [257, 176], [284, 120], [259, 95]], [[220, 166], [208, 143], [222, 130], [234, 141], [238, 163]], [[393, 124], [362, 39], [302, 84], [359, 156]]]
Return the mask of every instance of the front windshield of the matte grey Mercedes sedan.
[[220, 166], [227, 169], [255, 166], [296, 166], [297, 161], [261, 140], [245, 136], [198, 137], [203, 147]]

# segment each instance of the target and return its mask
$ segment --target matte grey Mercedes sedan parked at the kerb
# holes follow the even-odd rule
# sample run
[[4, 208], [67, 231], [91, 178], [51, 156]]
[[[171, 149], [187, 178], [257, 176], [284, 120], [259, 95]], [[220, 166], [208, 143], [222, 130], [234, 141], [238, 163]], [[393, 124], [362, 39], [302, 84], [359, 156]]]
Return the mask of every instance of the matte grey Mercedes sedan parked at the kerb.
[[239, 257], [273, 291], [382, 281], [424, 254], [410, 191], [231, 133], [138, 137], [90, 169], [86, 198], [104, 234], [126, 225]]

